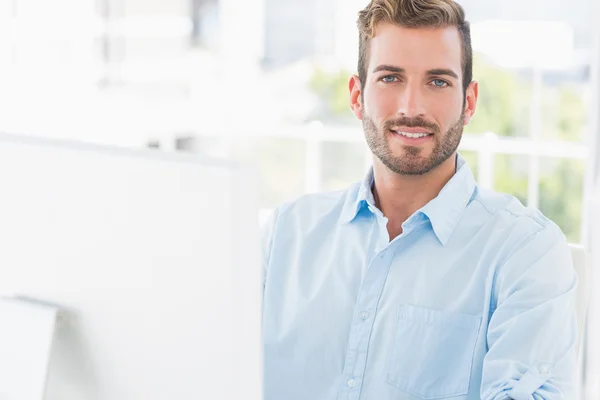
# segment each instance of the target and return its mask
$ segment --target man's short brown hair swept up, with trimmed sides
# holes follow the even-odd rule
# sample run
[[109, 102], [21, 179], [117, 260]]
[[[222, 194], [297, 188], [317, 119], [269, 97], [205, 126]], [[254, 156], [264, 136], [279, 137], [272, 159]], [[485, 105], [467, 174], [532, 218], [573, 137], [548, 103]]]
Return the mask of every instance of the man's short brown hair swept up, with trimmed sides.
[[375, 28], [389, 22], [407, 28], [446, 28], [455, 26], [462, 39], [463, 90], [466, 93], [473, 79], [471, 27], [465, 21], [465, 11], [454, 0], [371, 0], [358, 13], [358, 77], [361, 87], [367, 79], [369, 43]]

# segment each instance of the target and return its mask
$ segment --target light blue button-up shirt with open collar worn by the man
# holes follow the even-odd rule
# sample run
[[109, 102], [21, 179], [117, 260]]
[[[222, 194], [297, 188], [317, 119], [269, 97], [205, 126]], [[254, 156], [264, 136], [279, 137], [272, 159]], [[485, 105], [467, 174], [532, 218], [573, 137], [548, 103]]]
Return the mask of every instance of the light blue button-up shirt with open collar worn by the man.
[[560, 229], [477, 186], [459, 156], [390, 242], [372, 183], [265, 225], [265, 399], [573, 399], [577, 275]]

